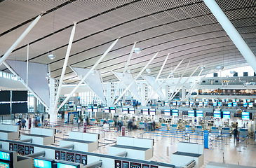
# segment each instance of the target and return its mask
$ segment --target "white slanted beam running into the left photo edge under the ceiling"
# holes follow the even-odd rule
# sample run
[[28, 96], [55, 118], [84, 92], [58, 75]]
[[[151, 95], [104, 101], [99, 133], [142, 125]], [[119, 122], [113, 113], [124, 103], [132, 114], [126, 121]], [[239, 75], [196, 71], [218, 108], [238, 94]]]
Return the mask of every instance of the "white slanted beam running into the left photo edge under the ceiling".
[[27, 36], [27, 34], [29, 33], [30, 30], [32, 30], [32, 28], [34, 27], [34, 25], [36, 25], [36, 23], [39, 21], [39, 19], [41, 18], [41, 15], [39, 15], [30, 25], [29, 27], [27, 27], [27, 29], [25, 29], [25, 31], [20, 35], [20, 37], [15, 41], [15, 43], [13, 43], [13, 45], [11, 45], [11, 48], [9, 48], [6, 53], [4, 54], [3, 57], [1, 57], [0, 59], [0, 65], [7, 59], [7, 57], [9, 55], [11, 55], [11, 52], [13, 52], [13, 50], [19, 45], [19, 43], [25, 38], [25, 36]]

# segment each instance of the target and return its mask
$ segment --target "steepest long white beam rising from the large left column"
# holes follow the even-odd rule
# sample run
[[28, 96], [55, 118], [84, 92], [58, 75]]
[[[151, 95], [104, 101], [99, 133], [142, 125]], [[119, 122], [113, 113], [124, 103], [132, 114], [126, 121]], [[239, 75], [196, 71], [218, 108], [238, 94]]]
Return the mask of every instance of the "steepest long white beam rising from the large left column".
[[57, 109], [58, 100], [59, 100], [59, 97], [60, 97], [60, 91], [61, 91], [61, 88], [62, 88], [63, 78], [65, 76], [65, 72], [66, 72], [66, 69], [67, 69], [67, 62], [69, 61], [69, 54], [70, 54], [70, 50], [72, 48], [72, 43], [73, 43], [75, 31], [76, 31], [76, 22], [74, 22], [74, 26], [73, 26], [73, 29], [71, 31], [70, 38], [69, 38], [69, 45], [67, 45], [67, 52], [66, 52], [65, 61], [64, 61], [61, 76], [60, 76], [60, 83], [59, 83], [59, 87], [58, 87], [58, 92], [57, 92], [56, 97], [55, 97], [54, 109]]

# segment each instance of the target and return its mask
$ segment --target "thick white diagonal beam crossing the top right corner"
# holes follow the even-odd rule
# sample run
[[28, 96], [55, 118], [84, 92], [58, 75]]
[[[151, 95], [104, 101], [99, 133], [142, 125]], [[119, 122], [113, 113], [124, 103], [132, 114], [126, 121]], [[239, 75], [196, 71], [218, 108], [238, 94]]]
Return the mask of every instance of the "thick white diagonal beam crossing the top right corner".
[[[220, 6], [216, 3], [215, 0], [203, 0], [206, 3], [206, 6], [212, 11], [213, 15], [217, 19], [217, 21], [222, 25], [224, 31], [226, 31], [227, 35], [233, 43], [236, 45], [236, 48], [241, 52], [241, 55], [245, 58], [246, 62], [252, 66], [252, 69], [256, 72], [256, 56], [247, 45], [247, 43], [243, 40], [243, 37], [236, 30], [236, 27], [231, 23], [227, 15], [222, 11]], [[232, 1], [230, 1], [232, 3]]]

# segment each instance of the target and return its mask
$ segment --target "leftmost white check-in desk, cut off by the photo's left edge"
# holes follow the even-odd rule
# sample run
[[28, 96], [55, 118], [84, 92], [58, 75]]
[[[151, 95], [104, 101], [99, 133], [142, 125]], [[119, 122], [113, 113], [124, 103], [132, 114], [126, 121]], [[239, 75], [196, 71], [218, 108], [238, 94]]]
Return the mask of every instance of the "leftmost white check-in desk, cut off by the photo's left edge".
[[18, 125], [0, 125], [0, 139], [18, 139], [19, 126]]

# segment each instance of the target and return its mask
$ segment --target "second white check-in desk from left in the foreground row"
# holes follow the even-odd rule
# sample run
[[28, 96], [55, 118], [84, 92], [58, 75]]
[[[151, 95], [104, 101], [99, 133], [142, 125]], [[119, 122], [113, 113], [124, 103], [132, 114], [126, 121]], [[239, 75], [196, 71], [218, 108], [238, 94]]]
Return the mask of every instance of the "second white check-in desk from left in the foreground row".
[[30, 134], [20, 135], [20, 140], [32, 139], [32, 144], [50, 145], [54, 143], [55, 130], [32, 127]]

